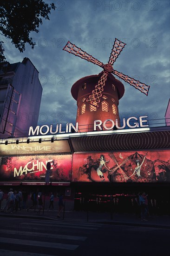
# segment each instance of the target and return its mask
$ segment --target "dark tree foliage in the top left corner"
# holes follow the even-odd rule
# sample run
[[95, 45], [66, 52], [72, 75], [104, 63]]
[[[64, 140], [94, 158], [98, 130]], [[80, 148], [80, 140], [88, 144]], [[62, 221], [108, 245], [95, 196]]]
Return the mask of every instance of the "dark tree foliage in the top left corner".
[[[39, 32], [42, 18], [50, 20], [54, 3], [43, 0], [0, 0], [0, 34], [10, 39], [20, 52], [25, 51], [26, 43], [35, 46], [31, 32]], [[0, 62], [5, 61], [3, 41], [0, 40]]]

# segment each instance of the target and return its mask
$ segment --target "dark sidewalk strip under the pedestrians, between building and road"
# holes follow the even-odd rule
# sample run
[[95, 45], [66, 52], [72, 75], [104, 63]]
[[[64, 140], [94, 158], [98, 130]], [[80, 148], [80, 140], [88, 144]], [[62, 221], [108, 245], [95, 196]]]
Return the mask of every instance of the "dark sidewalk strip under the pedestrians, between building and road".
[[[46, 219], [55, 221], [74, 221], [74, 222], [86, 222], [86, 223], [103, 223], [103, 224], [113, 224], [113, 225], [129, 225], [129, 226], [141, 226], [141, 227], [154, 227], [170, 229], [170, 216], [152, 216], [146, 221], [141, 221], [133, 214], [113, 214], [110, 213], [100, 213], [100, 212], [85, 212], [85, 211], [65, 211], [61, 214], [61, 217], [57, 218], [57, 210], [44, 210], [41, 211], [40, 215], [37, 211], [26, 209], [18, 210], [17, 213], [4, 213], [0, 212], [1, 216], [6, 217], [18, 217], [18, 218], [34, 218], [34, 219]], [[111, 219], [112, 217], [112, 219]]]

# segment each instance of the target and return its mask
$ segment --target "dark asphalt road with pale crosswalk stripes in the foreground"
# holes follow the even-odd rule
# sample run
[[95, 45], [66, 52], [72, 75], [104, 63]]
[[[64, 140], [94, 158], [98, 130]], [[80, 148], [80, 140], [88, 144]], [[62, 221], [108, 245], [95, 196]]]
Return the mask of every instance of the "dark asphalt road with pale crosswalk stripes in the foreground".
[[0, 218], [0, 256], [167, 256], [170, 229]]

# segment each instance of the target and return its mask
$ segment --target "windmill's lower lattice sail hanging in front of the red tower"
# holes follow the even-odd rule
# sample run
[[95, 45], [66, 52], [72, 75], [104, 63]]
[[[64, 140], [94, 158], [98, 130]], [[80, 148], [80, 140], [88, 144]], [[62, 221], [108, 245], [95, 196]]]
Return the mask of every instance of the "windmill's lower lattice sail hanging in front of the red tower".
[[94, 107], [99, 107], [100, 100], [103, 94], [103, 88], [105, 86], [105, 81], [107, 80], [108, 72], [104, 71], [100, 77], [98, 84], [95, 86], [95, 89], [92, 90], [92, 94], [86, 99], [86, 102], [93, 105]]

